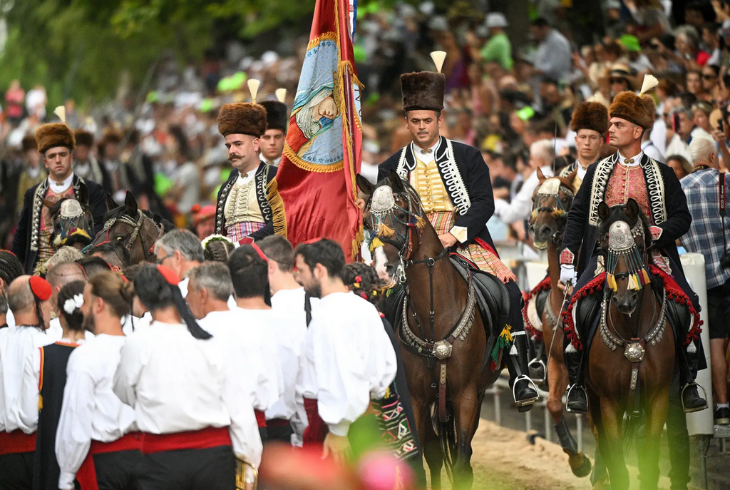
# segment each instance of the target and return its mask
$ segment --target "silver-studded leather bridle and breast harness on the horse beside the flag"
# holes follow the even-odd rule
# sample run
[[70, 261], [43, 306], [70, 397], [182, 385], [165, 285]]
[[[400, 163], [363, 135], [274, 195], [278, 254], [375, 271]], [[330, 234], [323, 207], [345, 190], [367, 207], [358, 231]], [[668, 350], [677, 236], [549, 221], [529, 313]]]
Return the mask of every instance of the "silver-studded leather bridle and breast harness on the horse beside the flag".
[[[453, 326], [450, 331], [446, 334], [443, 340], [435, 340], [435, 329], [436, 329], [436, 313], [434, 311], [434, 267], [437, 261], [444, 259], [448, 256], [448, 248], [444, 248], [441, 253], [436, 257], [428, 257], [426, 259], [412, 260], [410, 259], [412, 253], [412, 240], [413, 232], [415, 229], [423, 230], [423, 210], [418, 206], [418, 210], [414, 210], [416, 205], [414, 202], [418, 200], [410, 195], [409, 190], [405, 192], [405, 196], [401, 196], [408, 203], [408, 209], [404, 210], [396, 203], [396, 199], [393, 194], [393, 189], [389, 185], [382, 185], [375, 189], [371, 196], [369, 203], [370, 215], [371, 215], [371, 237], [377, 238], [383, 243], [393, 245], [398, 250], [398, 255], [401, 260], [399, 264], [400, 280], [401, 283], [405, 283], [405, 269], [409, 266], [416, 264], [426, 264], [429, 267], [429, 294], [430, 294], [430, 310], [429, 310], [429, 326], [430, 334], [426, 336], [423, 332], [423, 326], [418, 321], [418, 315], [415, 313], [415, 308], [412, 307], [412, 317], [421, 337], [418, 337], [408, 326], [408, 307], [410, 299], [410, 290], [406, 286], [406, 292], [403, 299], [403, 312], [402, 312], [402, 325], [399, 329], [399, 338], [402, 338], [404, 345], [412, 352], [418, 353], [421, 356], [425, 356], [429, 360], [429, 370], [433, 372], [433, 369], [439, 362], [439, 376], [438, 376], [438, 399], [439, 399], [439, 421], [445, 422], [448, 420], [446, 414], [446, 364], [448, 358], [451, 356], [453, 351], [453, 344], [457, 339], [466, 340], [466, 335], [472, 329], [474, 324], [475, 311], [476, 311], [476, 292], [474, 283], [471, 280], [471, 272], [469, 272], [466, 278], [466, 283], [469, 284], [469, 296], [466, 300], [466, 308], [464, 313], [461, 314], [461, 318]], [[403, 221], [395, 215], [396, 211], [406, 213], [407, 221]], [[407, 233], [401, 233], [396, 226], [388, 226], [386, 220], [397, 222], [401, 225], [407, 226]], [[395, 236], [396, 240], [391, 239]], [[428, 340], [425, 340], [428, 339]], [[436, 388], [436, 383], [432, 383], [431, 386]]]

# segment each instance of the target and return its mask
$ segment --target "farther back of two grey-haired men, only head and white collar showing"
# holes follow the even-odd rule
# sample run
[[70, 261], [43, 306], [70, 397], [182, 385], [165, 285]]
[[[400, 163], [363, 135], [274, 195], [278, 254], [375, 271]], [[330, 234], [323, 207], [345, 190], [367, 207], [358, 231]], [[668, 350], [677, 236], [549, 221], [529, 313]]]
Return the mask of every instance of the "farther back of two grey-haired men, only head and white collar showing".
[[188, 271], [205, 260], [198, 237], [188, 230], [172, 230], [155, 242], [157, 263], [172, 269], [180, 280], [180, 293], [188, 294]]

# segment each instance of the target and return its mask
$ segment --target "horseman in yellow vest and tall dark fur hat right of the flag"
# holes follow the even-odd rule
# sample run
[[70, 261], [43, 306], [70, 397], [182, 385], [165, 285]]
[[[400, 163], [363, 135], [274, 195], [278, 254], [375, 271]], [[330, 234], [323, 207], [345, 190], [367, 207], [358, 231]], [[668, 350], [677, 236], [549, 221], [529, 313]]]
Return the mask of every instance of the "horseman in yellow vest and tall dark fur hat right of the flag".
[[537, 391], [527, 378], [527, 337], [520, 313], [522, 293], [515, 275], [499, 260], [486, 223], [494, 211], [489, 169], [479, 150], [439, 135], [444, 118], [445, 76], [418, 72], [401, 75], [406, 127], [413, 139], [380, 164], [378, 180], [396, 171], [420, 196], [439, 240], [479, 269], [499, 277], [510, 293], [516, 355], [507, 356], [515, 403], [529, 410]]

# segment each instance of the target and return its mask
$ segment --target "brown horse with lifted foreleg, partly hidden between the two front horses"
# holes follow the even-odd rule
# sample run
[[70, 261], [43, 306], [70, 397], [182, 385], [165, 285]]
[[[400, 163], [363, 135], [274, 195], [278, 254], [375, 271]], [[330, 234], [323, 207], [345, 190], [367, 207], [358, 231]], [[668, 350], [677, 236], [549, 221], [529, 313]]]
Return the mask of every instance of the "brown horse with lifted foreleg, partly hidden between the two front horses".
[[[573, 204], [574, 170], [567, 177], [550, 177], [542, 175], [537, 169], [539, 185], [532, 196], [532, 215], [529, 229], [533, 236], [533, 245], [539, 250], [548, 250], [548, 280], [538, 286], [540, 292], [547, 289], [545, 307], [540, 317], [542, 324], [542, 344], [548, 355], [548, 402], [547, 407], [555, 421], [556, 432], [563, 451], [568, 455], [568, 462], [573, 474], [579, 478], [591, 472], [591, 460], [578, 451], [563, 413], [563, 395], [568, 387], [568, 370], [563, 360], [563, 322], [560, 314], [566, 295], [560, 285], [560, 251], [563, 243], [563, 232], [568, 213]], [[533, 293], [531, 293], [533, 294]], [[535, 294], [537, 296], [537, 294]], [[530, 323], [530, 305], [525, 305], [526, 325]], [[539, 312], [537, 312], [539, 315]]]

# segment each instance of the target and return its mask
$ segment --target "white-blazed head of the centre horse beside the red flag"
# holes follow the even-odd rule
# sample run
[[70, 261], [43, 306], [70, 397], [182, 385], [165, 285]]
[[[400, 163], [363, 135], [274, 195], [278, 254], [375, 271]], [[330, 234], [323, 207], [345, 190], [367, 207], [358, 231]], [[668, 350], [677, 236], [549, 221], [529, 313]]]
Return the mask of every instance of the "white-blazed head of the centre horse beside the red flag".
[[391, 172], [376, 185], [361, 175], [356, 180], [375, 269], [380, 277], [395, 283], [399, 273], [403, 279], [404, 262], [418, 252], [417, 230], [426, 226], [418, 193], [396, 172]]

